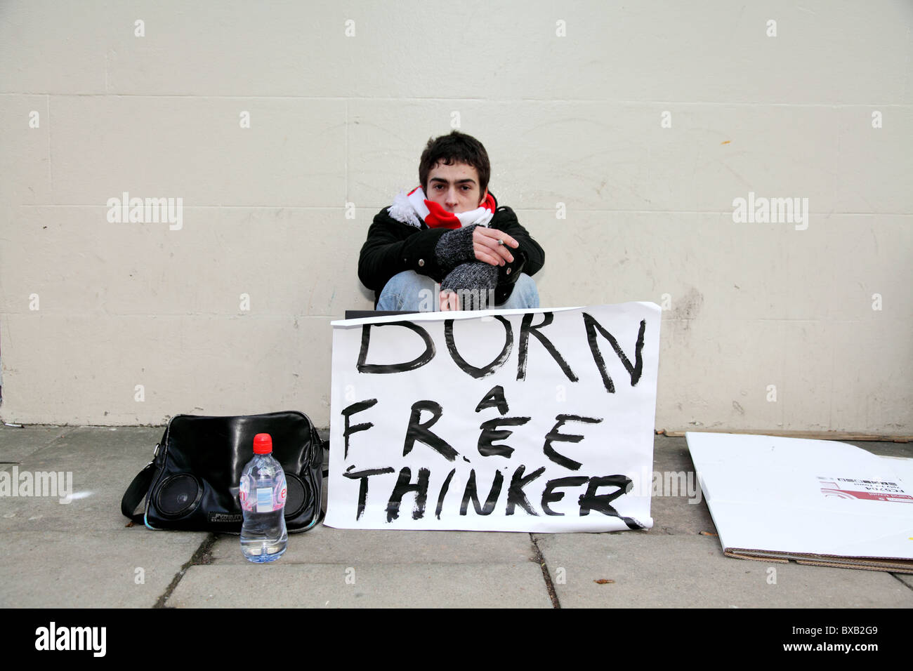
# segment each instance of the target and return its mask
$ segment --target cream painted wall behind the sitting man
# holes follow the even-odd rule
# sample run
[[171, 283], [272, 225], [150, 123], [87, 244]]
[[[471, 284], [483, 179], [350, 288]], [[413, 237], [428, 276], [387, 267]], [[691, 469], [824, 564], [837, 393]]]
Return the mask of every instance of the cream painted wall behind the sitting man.
[[328, 425], [367, 226], [458, 118], [543, 306], [664, 306], [657, 428], [913, 435], [913, 4], [802, 5], [7, 0], [0, 417]]

